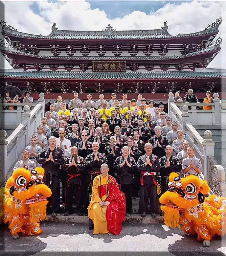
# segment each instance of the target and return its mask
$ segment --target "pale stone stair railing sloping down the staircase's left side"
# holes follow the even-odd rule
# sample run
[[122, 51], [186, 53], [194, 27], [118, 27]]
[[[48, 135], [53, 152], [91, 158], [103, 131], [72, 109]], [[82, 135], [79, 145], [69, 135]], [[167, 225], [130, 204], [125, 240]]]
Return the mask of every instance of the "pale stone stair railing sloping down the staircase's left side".
[[0, 130], [1, 185], [4, 184], [7, 178], [11, 175], [15, 163], [21, 159], [22, 151], [29, 145], [30, 138], [35, 134], [36, 129], [41, 122], [41, 118], [44, 116], [44, 93], [40, 93], [39, 96], [39, 103], [37, 103], [31, 111], [28, 105], [23, 107], [21, 123], [14, 129], [8, 138], [6, 131], [3, 129]]

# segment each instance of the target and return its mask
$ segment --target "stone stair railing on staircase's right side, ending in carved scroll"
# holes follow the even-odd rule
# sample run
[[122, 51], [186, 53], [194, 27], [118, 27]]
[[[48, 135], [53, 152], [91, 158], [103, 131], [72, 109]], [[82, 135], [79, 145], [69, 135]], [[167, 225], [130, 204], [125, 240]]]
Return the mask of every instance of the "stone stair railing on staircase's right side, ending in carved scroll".
[[[217, 95], [215, 95], [217, 96]], [[218, 99], [218, 97], [215, 97]], [[219, 99], [218, 99], [219, 100]], [[216, 101], [219, 103], [219, 101]], [[189, 105], [189, 104], [188, 104]], [[200, 104], [197, 104], [200, 105]], [[215, 107], [216, 110], [216, 107]], [[202, 115], [205, 115], [206, 111], [213, 110], [196, 110], [202, 111]], [[202, 162], [203, 171], [199, 175], [201, 179], [206, 179], [211, 188], [211, 194], [216, 194], [217, 196], [226, 196], [226, 182], [225, 182], [225, 172], [221, 165], [214, 157], [214, 141], [212, 139], [212, 132], [206, 130], [204, 132], [204, 139], [193, 127], [193, 123], [190, 122], [191, 112], [189, 108], [183, 104], [180, 110], [178, 106], [174, 103], [173, 93], [169, 93], [169, 116], [172, 121], [178, 123], [178, 127], [181, 128], [186, 136], [186, 140], [189, 141], [190, 145], [195, 149], [195, 156], [199, 158]], [[207, 117], [206, 117], [207, 118]], [[206, 124], [210, 125], [210, 120], [206, 120]], [[196, 123], [197, 124], [197, 123]], [[201, 124], [200, 124], [201, 125]], [[219, 123], [218, 123], [219, 125]]]

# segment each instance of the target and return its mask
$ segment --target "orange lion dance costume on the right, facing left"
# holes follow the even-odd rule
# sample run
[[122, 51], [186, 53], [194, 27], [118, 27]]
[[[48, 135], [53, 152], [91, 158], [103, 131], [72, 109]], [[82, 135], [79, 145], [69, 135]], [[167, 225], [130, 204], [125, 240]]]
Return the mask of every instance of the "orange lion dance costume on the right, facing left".
[[210, 246], [215, 235], [226, 233], [226, 198], [215, 195], [205, 198], [203, 194], [210, 192], [206, 180], [195, 175], [180, 178], [171, 173], [168, 185], [169, 190], [160, 197], [167, 226], [180, 228], [182, 224], [182, 230], [187, 235], [197, 233], [204, 246]]

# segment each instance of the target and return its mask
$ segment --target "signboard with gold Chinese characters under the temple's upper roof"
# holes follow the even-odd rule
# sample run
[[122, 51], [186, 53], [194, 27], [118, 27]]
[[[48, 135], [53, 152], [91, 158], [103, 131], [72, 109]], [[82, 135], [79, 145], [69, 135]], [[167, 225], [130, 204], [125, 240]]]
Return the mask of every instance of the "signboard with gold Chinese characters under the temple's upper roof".
[[93, 71], [125, 72], [126, 61], [120, 61], [120, 60], [93, 61]]

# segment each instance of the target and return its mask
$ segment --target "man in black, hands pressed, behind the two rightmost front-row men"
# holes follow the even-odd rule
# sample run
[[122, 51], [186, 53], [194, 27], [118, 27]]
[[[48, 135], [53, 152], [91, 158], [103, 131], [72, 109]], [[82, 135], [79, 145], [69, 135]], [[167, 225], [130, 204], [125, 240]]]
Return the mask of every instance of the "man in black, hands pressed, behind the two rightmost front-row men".
[[155, 136], [151, 137], [148, 142], [151, 143], [153, 147], [153, 154], [157, 155], [159, 158], [166, 155], [166, 146], [169, 144], [167, 138], [161, 135], [160, 126], [155, 127]]

